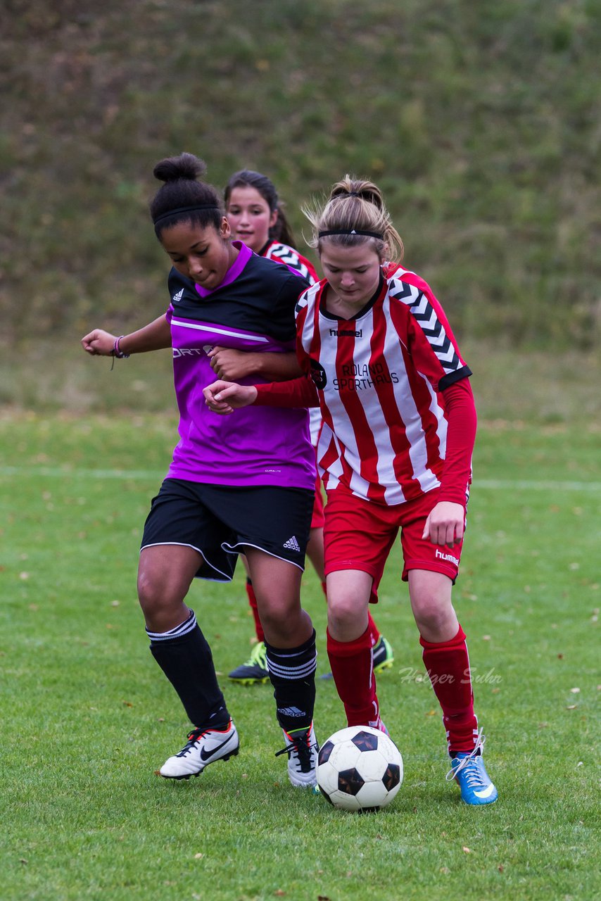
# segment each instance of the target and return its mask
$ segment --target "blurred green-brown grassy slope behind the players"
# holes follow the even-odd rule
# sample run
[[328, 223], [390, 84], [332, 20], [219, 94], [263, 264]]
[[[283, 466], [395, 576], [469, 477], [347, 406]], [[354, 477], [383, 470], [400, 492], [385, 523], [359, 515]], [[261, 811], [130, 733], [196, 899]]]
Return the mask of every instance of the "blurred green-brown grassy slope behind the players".
[[383, 187], [455, 331], [601, 337], [601, 0], [5, 0], [3, 340], [131, 329], [167, 302], [154, 163], [189, 150], [298, 207]]

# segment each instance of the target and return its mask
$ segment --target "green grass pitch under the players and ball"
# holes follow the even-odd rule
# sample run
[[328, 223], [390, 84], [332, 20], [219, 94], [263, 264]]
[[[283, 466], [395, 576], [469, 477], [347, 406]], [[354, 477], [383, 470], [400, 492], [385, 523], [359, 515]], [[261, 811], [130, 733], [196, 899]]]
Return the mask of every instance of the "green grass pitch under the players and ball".
[[[557, 419], [558, 417], [555, 417]], [[551, 417], [553, 419], [553, 417]], [[173, 784], [155, 769], [187, 722], [148, 651], [135, 600], [141, 525], [175, 440], [159, 415], [0, 417], [2, 878], [6, 899], [599, 896], [599, 432], [483, 421], [455, 589], [487, 766], [500, 798], [461, 805], [399, 553], [376, 612], [395, 669], [379, 681], [405, 781], [379, 815], [293, 790], [269, 687], [229, 686], [250, 651], [243, 581], [197, 584], [240, 756]], [[305, 605], [327, 669], [325, 609]], [[319, 682], [323, 741], [343, 718]]]

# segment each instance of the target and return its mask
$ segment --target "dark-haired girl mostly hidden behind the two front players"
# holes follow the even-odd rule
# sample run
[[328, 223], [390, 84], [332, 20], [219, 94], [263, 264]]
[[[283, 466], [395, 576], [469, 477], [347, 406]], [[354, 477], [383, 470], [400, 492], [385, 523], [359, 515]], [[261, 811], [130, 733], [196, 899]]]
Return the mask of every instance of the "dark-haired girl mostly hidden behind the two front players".
[[[241, 169], [229, 178], [223, 191], [225, 214], [232, 229], [232, 237], [250, 247], [260, 257], [275, 259], [288, 268], [292, 268], [313, 283], [318, 281], [313, 263], [302, 256], [295, 248], [295, 237], [284, 211], [284, 205], [278, 197], [278, 191], [270, 178], [252, 169]], [[220, 378], [237, 380], [252, 374], [255, 358], [253, 353], [243, 353], [232, 348], [214, 347], [210, 352], [211, 365]], [[297, 371], [296, 356], [293, 356], [292, 369], [283, 369], [282, 378], [290, 378]], [[260, 363], [260, 360], [256, 360]], [[286, 363], [282, 360], [282, 365]], [[310, 411], [311, 439], [314, 446], [322, 425], [322, 417], [317, 407]], [[323, 560], [323, 498], [321, 480], [317, 477], [313, 519], [307, 555], [313, 563], [325, 593], [325, 574]], [[246, 566], [246, 561], [242, 557]], [[260, 623], [257, 600], [248, 573], [246, 593], [250, 609], [254, 617], [257, 644], [252, 650], [250, 659], [246, 660], [229, 673], [229, 678], [242, 685], [253, 685], [269, 679], [267, 669], [265, 636]], [[392, 648], [378, 631], [378, 626], [369, 615], [369, 630], [374, 648], [374, 667], [381, 671], [392, 666], [394, 660]]]

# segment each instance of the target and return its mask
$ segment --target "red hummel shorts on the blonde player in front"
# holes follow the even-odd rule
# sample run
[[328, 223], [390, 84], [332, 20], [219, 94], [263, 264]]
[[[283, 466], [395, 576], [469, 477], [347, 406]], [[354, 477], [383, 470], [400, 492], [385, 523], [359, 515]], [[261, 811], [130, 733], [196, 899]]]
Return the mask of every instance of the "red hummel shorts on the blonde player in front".
[[463, 542], [450, 548], [422, 538], [423, 526], [439, 494], [435, 489], [405, 504], [387, 506], [351, 495], [341, 487], [329, 491], [323, 529], [325, 575], [339, 569], [369, 573], [374, 580], [369, 602], [378, 603], [379, 581], [400, 529], [404, 581], [409, 569], [430, 569], [454, 582]]

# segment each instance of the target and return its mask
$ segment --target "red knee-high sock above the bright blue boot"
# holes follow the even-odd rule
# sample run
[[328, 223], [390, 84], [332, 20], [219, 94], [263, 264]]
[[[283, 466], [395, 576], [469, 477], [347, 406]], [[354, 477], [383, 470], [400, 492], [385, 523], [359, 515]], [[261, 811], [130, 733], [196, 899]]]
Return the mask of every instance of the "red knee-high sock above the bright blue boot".
[[425, 642], [420, 637], [420, 644], [423, 647], [423, 664], [442, 707], [449, 753], [473, 751], [478, 720], [474, 714], [465, 633], [460, 626], [459, 632], [448, 642]]

